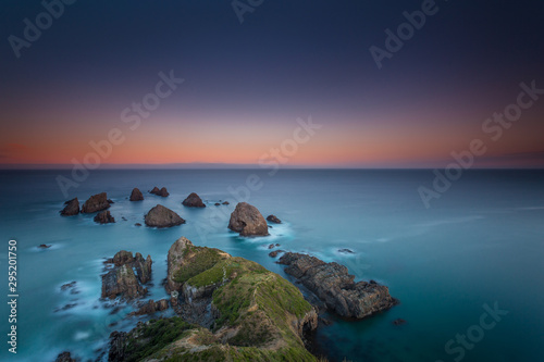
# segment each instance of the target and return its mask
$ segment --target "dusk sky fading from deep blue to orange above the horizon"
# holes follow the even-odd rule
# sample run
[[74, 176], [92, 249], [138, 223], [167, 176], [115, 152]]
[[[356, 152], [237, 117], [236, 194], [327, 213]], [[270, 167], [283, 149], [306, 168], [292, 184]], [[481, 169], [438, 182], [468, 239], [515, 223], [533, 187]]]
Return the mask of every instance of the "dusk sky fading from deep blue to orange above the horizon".
[[0, 167], [544, 166], [541, 0], [64, 1], [2, 2]]

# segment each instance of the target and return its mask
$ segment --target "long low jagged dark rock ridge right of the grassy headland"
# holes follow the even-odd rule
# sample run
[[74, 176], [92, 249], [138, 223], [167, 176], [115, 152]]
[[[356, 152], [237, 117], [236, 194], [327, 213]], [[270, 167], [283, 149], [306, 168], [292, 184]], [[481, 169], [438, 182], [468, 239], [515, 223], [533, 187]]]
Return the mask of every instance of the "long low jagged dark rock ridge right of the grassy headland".
[[299, 279], [327, 309], [344, 317], [363, 319], [398, 303], [385, 286], [355, 283], [344, 265], [325, 263], [314, 257], [287, 252], [279, 261], [285, 273]]

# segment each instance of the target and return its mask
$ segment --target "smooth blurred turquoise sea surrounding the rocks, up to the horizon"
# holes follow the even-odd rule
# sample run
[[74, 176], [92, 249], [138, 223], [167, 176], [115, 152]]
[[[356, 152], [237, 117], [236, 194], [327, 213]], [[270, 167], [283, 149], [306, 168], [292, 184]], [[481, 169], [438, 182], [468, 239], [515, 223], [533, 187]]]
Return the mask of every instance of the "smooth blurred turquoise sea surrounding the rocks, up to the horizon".
[[[59, 172], [1, 172], [0, 290], [8, 300], [8, 241], [15, 239], [20, 298], [16, 357], [8, 352], [9, 309], [5, 303], [0, 309], [5, 336], [0, 360], [52, 361], [64, 350], [84, 360], [99, 358], [112, 330], [129, 329], [138, 321], [125, 319], [129, 309], [110, 314], [99, 300], [103, 258], [121, 249], [150, 254], [150, 298], [157, 300], [165, 297], [161, 280], [168, 250], [181, 236], [285, 275], [268, 257], [267, 246], [279, 242], [282, 249], [345, 264], [358, 279], [387, 285], [399, 305], [366, 321], [334, 320], [320, 329], [318, 345], [332, 361], [544, 360], [543, 172], [471, 171], [425, 209], [417, 188], [432, 183], [431, 171], [288, 170], [274, 176], [259, 171], [263, 185], [248, 201], [284, 224], [274, 225], [270, 237], [240, 238], [226, 228], [237, 199], [228, 188], [245, 185], [251, 173], [94, 171], [69, 198], [86, 200], [107, 191], [115, 202], [110, 210], [116, 223], [97, 225], [92, 215], [58, 214], [69, 199], [55, 183]], [[145, 192], [153, 186], [165, 186], [170, 197]], [[133, 187], [144, 191], [144, 202], [127, 200]], [[191, 191], [209, 200], [209, 208], [182, 207]], [[219, 200], [233, 202], [213, 207]], [[134, 226], [157, 203], [187, 224]], [[39, 250], [40, 244], [52, 247]], [[338, 253], [341, 248], [355, 254]], [[78, 294], [60, 290], [72, 280]], [[465, 348], [462, 359], [459, 350], [448, 354], [446, 344], [480, 324], [485, 303], [497, 303], [508, 314]], [[66, 304], [75, 307], [55, 312]], [[407, 323], [393, 325], [399, 317]]]

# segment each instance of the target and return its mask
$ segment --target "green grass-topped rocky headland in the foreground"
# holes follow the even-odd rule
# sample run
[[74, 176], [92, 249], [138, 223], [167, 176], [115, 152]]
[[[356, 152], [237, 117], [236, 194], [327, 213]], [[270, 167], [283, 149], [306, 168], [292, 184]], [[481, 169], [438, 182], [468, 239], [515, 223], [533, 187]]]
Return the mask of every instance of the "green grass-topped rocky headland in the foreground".
[[112, 333], [109, 361], [317, 361], [305, 349], [316, 310], [280, 275], [186, 238], [168, 262], [166, 288], [182, 317]]

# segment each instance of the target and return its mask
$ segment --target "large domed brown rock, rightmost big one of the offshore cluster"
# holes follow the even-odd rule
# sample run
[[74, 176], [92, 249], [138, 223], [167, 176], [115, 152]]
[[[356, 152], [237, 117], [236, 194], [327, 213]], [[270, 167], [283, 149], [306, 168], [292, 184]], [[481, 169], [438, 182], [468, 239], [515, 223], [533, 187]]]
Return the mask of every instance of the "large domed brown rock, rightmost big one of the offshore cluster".
[[236, 209], [231, 214], [228, 228], [242, 236], [269, 235], [267, 221], [256, 207], [247, 202], [240, 202], [236, 205]]

